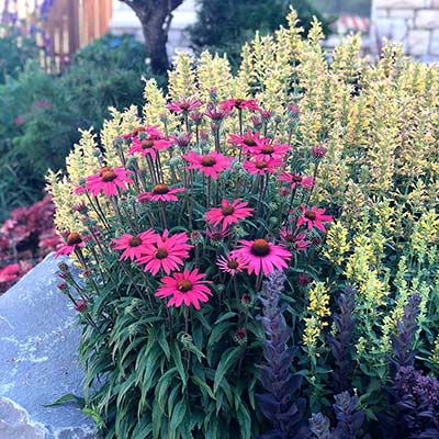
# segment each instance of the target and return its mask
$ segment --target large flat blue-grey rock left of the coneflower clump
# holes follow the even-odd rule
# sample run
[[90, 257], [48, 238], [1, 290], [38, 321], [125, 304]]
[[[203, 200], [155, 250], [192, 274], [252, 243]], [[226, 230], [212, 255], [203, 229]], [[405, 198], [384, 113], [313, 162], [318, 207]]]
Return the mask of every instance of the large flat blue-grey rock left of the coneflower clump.
[[0, 297], [0, 439], [94, 439], [93, 423], [74, 404], [81, 395], [79, 328], [71, 303], [57, 290], [49, 255]]

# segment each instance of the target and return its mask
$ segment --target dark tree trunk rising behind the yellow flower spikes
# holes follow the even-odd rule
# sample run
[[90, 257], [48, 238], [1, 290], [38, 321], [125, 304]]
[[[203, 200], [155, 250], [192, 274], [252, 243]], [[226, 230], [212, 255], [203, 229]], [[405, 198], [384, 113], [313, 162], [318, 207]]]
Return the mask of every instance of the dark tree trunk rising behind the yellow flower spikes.
[[153, 74], [166, 75], [169, 59], [166, 50], [172, 11], [183, 0], [121, 0], [128, 4], [142, 23]]

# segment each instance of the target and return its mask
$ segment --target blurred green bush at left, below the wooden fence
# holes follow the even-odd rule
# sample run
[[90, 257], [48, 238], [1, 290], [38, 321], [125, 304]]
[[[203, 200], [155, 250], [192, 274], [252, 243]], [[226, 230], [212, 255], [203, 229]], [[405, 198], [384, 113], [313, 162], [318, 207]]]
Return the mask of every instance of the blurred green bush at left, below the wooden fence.
[[0, 217], [42, 196], [47, 169], [63, 167], [79, 128], [101, 127], [110, 106], [140, 102], [145, 58], [133, 37], [105, 36], [79, 52], [61, 77], [34, 64], [0, 86], [0, 105], [10, 109], [0, 115]]

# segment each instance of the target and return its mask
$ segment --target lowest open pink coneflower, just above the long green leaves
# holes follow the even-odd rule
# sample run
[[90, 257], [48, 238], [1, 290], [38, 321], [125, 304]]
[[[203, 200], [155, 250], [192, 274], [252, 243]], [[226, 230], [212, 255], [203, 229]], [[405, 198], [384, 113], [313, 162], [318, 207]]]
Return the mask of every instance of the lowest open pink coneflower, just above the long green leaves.
[[157, 297], [169, 297], [167, 306], [179, 307], [183, 303], [185, 306], [193, 305], [195, 309], [200, 309], [200, 302], [207, 302], [212, 295], [206, 284], [211, 281], [202, 280], [204, 273], [199, 273], [195, 268], [193, 271], [185, 269], [182, 273], [173, 273], [172, 277], [161, 279], [162, 285], [156, 292]]

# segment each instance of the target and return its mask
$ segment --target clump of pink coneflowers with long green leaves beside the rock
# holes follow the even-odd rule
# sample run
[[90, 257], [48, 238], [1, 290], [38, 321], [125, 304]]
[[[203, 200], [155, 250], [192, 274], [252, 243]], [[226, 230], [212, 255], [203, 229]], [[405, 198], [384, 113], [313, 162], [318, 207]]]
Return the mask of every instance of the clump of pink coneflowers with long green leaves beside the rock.
[[61, 263], [59, 289], [85, 324], [87, 389], [105, 376], [88, 407], [109, 438], [255, 437], [258, 295], [274, 271], [302, 289], [333, 221], [311, 202], [324, 154], [295, 149], [254, 99], [168, 108], [178, 126], [122, 133], [116, 162], [94, 151], [99, 168], [70, 182], [83, 228], [57, 255], [83, 282]]

